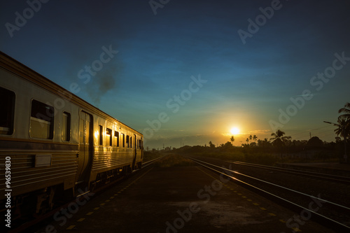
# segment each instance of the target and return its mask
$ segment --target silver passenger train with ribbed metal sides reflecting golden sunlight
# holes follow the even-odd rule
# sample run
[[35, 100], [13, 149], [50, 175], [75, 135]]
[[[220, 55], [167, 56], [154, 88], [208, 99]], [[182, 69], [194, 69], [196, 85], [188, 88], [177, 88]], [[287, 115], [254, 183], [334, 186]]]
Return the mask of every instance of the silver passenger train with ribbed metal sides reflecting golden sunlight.
[[42, 214], [141, 169], [141, 133], [3, 52], [0, 99], [1, 213]]

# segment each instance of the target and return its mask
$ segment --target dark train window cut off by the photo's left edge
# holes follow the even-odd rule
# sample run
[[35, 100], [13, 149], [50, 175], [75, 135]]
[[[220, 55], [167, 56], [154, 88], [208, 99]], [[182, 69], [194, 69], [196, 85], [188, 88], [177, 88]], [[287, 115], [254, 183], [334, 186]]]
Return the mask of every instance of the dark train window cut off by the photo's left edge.
[[0, 134], [13, 134], [15, 92], [0, 87]]

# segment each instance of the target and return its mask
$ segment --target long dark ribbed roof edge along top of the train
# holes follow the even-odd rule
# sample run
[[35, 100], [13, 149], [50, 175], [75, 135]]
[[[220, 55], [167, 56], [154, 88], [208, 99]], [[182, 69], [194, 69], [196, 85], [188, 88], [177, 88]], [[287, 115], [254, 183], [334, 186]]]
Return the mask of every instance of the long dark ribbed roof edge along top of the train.
[[0, 51], [0, 66], [3, 67], [3, 69], [6, 69], [22, 78], [25, 78], [26, 80], [29, 80], [31, 83], [34, 83], [40, 87], [44, 87], [45, 90], [48, 90], [53, 94], [66, 99], [67, 101], [77, 104], [78, 106], [82, 106], [89, 111], [92, 111], [93, 113], [104, 116], [107, 119], [115, 120], [120, 124], [123, 124], [125, 127], [132, 129], [134, 132], [141, 134], [136, 129], [133, 129], [132, 127], [125, 125], [123, 122], [120, 122], [120, 120], [113, 118], [111, 115], [104, 113], [104, 111], [101, 109], [93, 106], [84, 99], [81, 99], [80, 97], [76, 96], [76, 94], [69, 92], [69, 90], [66, 90], [64, 87], [61, 87], [57, 83], [52, 82], [52, 80], [45, 78], [40, 73], [30, 69], [28, 66], [25, 66], [24, 64], [18, 62], [2, 51]]

